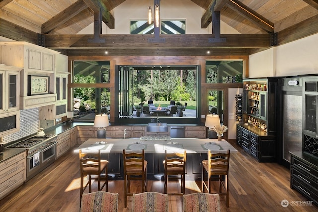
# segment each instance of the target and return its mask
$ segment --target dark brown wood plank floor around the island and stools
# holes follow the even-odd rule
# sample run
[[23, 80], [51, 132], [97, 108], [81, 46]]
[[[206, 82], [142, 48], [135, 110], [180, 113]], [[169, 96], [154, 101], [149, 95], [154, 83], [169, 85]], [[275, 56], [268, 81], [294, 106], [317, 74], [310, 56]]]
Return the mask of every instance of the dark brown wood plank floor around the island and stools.
[[[230, 142], [231, 143], [231, 142]], [[258, 163], [235, 143], [239, 150], [230, 157], [230, 207], [225, 206], [221, 196], [222, 212], [317, 212], [318, 207], [289, 205], [281, 201], [307, 200], [300, 193], [290, 189], [290, 173], [276, 163]], [[42, 171], [24, 185], [0, 201], [1, 212], [79, 212], [79, 156], [70, 151], [53, 165]], [[133, 192], [141, 191], [141, 183], [133, 183]], [[148, 181], [147, 190], [164, 192], [163, 181]], [[96, 191], [96, 183], [94, 188]], [[180, 190], [178, 182], [171, 182], [172, 190]], [[201, 182], [186, 181], [186, 194], [200, 192]], [[109, 192], [119, 193], [119, 212], [131, 211], [131, 197], [124, 208], [123, 181], [109, 181]], [[169, 212], [182, 212], [182, 197], [169, 196]]]

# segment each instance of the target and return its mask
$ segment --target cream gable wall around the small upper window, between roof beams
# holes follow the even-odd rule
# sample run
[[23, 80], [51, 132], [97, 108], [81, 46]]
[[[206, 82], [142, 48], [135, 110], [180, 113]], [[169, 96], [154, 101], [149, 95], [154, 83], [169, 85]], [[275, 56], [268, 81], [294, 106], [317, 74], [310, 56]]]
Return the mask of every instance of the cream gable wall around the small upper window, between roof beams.
[[[147, 20], [149, 1], [126, 0], [111, 14], [115, 18], [115, 29], [109, 29], [103, 23], [102, 34], [130, 34], [130, 20]], [[154, 11], [154, 1], [151, 1]], [[201, 28], [201, 17], [205, 10], [190, 0], [161, 0], [161, 20], [186, 20], [186, 34], [212, 34], [212, 25], [206, 29]], [[238, 34], [239, 32], [221, 21], [221, 34]], [[78, 34], [94, 34], [94, 24], [91, 23]]]

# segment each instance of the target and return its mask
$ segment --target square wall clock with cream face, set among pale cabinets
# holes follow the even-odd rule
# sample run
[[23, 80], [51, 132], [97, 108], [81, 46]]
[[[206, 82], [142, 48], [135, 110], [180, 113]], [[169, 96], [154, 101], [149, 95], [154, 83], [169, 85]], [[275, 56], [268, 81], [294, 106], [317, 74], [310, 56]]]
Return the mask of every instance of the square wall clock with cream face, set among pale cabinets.
[[28, 75], [28, 96], [48, 94], [49, 83], [50, 83], [49, 76]]

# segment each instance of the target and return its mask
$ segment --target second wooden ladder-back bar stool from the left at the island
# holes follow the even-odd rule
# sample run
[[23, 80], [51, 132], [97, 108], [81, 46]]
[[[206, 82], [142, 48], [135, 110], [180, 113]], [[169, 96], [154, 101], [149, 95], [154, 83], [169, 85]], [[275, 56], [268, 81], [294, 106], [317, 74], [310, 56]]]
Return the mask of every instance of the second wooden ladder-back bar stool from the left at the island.
[[145, 160], [145, 151], [129, 152], [123, 150], [124, 163], [124, 190], [125, 190], [125, 208], [127, 207], [127, 196], [132, 196], [130, 193], [130, 180], [142, 181], [142, 192], [146, 191], [147, 185], [147, 161]]

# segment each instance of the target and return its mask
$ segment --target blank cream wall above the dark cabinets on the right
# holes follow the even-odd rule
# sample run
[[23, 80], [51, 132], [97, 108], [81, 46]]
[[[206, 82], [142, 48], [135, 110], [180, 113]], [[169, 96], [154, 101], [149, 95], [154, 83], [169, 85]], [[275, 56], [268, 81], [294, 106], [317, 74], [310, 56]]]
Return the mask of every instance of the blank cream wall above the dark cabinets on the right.
[[249, 78], [318, 74], [318, 33], [249, 56]]

